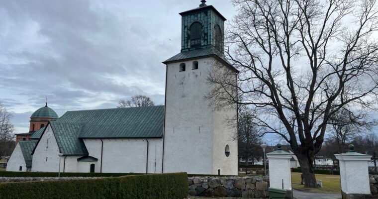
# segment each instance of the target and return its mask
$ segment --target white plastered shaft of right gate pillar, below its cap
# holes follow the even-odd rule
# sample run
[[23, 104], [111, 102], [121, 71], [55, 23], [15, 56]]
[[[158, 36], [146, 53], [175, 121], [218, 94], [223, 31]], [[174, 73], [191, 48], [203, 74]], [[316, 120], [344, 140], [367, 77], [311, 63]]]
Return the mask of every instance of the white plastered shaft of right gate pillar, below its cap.
[[340, 160], [341, 189], [346, 194], [369, 194], [368, 161]]

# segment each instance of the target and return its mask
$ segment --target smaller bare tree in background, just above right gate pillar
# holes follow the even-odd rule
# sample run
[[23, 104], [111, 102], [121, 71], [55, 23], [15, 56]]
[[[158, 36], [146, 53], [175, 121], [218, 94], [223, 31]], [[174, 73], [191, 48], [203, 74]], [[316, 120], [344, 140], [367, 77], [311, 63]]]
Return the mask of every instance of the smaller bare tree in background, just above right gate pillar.
[[365, 130], [370, 130], [376, 124], [369, 118], [367, 112], [360, 110], [354, 113], [344, 107], [330, 115], [328, 123], [331, 127], [329, 139], [336, 143], [337, 153], [344, 152], [348, 140], [352, 141], [353, 138]]

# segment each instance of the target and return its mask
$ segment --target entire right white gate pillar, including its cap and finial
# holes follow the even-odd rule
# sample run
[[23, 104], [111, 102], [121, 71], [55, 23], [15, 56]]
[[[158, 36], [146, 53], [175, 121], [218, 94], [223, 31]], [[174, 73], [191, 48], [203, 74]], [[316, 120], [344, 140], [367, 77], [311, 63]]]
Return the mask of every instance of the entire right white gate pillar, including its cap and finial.
[[335, 154], [339, 160], [341, 192], [343, 199], [365, 199], [370, 195], [369, 166], [371, 155], [356, 153], [349, 145], [349, 152]]

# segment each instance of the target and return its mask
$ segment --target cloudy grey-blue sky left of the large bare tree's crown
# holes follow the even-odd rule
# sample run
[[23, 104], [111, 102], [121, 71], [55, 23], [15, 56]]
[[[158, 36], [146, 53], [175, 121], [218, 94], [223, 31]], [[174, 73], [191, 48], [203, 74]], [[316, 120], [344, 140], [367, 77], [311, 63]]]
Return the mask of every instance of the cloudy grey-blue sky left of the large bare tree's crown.
[[[0, 0], [0, 102], [15, 132], [48, 105], [113, 108], [120, 99], [164, 103], [165, 67], [180, 52], [179, 12], [199, 0]], [[227, 19], [229, 0], [208, 0]]]

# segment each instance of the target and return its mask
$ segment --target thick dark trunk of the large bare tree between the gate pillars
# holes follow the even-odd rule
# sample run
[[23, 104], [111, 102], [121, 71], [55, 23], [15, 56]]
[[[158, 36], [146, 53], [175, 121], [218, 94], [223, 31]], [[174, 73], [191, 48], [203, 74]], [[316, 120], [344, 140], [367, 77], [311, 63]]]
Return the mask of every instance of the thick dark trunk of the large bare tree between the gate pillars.
[[297, 155], [300, 169], [302, 170], [303, 180], [304, 180], [304, 187], [306, 188], [316, 188], [316, 179], [314, 169], [312, 167], [312, 159], [307, 155], [300, 154]]

